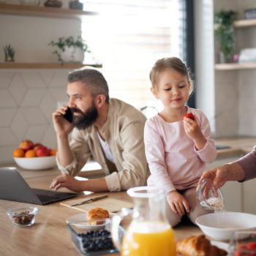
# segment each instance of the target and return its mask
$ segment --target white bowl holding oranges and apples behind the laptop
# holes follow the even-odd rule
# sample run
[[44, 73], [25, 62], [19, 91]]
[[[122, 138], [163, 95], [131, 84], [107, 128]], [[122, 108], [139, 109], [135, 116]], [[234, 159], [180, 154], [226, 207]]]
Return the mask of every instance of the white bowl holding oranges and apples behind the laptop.
[[16, 164], [27, 170], [45, 170], [56, 165], [56, 157], [13, 157]]

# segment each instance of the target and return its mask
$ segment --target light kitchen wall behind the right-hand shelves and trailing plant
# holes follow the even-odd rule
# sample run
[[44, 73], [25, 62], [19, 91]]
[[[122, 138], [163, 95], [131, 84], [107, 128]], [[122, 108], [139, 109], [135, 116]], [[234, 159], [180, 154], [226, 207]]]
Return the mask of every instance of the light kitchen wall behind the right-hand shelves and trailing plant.
[[[256, 7], [253, 0], [216, 0], [214, 11], [235, 10], [238, 19], [244, 10]], [[237, 53], [241, 48], [255, 48], [256, 27], [236, 29]], [[218, 62], [218, 49], [215, 61]], [[215, 136], [256, 136], [255, 69], [215, 72]]]

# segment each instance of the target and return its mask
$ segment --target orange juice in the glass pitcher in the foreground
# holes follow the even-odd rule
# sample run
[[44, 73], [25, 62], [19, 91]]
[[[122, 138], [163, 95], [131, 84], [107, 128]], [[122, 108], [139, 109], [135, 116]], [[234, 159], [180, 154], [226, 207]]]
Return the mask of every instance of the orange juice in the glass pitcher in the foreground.
[[176, 256], [173, 230], [165, 222], [133, 223], [124, 236], [122, 256]]

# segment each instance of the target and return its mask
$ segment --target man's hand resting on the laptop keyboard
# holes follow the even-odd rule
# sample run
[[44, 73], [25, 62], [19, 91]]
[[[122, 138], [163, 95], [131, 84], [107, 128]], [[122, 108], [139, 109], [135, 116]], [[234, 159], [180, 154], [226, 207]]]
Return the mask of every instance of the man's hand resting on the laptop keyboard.
[[50, 189], [58, 190], [61, 187], [66, 187], [74, 192], [82, 192], [83, 188], [80, 186], [81, 182], [83, 181], [78, 181], [74, 177], [67, 174], [61, 174], [60, 176], [53, 178], [53, 181], [50, 184]]

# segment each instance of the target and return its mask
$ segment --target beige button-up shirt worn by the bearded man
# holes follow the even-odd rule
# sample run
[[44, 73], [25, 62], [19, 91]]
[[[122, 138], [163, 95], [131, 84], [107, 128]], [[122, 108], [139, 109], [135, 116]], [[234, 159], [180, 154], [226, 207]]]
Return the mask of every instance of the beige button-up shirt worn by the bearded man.
[[146, 117], [136, 108], [118, 99], [110, 99], [108, 119], [100, 130], [113, 154], [117, 172], [109, 170], [99, 143], [97, 129], [92, 125], [83, 130], [72, 131], [70, 148], [73, 161], [59, 170], [75, 176], [91, 157], [105, 171], [105, 180], [110, 191], [126, 190], [146, 184], [149, 175], [146, 162], [143, 129]]

